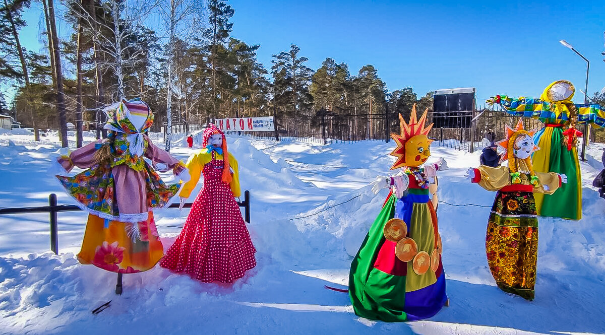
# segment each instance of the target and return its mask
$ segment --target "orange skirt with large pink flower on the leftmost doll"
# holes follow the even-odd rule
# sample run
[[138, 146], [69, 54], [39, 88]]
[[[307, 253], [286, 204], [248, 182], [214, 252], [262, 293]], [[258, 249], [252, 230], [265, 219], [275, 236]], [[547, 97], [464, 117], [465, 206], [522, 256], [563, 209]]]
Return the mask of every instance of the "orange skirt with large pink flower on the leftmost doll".
[[[133, 235], [135, 224], [139, 233]], [[152, 212], [146, 221], [139, 223], [111, 221], [89, 214], [77, 258], [82, 264], [93, 264], [103, 270], [135, 273], [154, 267], [163, 254]]]

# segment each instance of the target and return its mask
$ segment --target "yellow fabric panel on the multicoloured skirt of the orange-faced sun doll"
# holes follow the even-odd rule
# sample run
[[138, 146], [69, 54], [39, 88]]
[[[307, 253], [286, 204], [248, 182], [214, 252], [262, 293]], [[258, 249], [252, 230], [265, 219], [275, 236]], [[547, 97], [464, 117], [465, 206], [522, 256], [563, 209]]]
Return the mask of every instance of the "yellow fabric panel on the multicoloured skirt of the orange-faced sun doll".
[[[435, 232], [431, 220], [431, 212], [427, 203], [414, 203], [412, 216], [410, 218], [410, 232], [408, 236], [416, 241], [418, 252], [424, 251], [431, 255], [435, 246]], [[405, 291], [411, 292], [433, 285], [437, 277], [431, 268], [419, 276], [414, 272], [413, 261], [408, 262], [408, 272], [405, 278]]]

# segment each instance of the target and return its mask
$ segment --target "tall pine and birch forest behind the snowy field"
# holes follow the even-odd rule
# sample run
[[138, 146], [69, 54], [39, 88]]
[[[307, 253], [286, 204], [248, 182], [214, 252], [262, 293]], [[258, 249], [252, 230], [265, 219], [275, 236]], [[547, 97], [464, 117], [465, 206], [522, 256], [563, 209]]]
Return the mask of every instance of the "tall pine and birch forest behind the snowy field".
[[[327, 110], [341, 133], [355, 138], [384, 137], [385, 116], [395, 131], [397, 113], [408, 117], [414, 103], [420, 112], [433, 104], [432, 92], [388, 91], [371, 63], [350, 70], [327, 57], [313, 70], [296, 44], [276, 50], [267, 68], [257, 60], [260, 45], [231, 36], [235, 9], [227, 1], [65, 0], [59, 9], [54, 0], [40, 1], [34, 7], [42, 8], [40, 36], [47, 41], [41, 53], [22, 47], [33, 36], [19, 34], [24, 11], [38, 10], [32, 7], [38, 3], [0, 2], [0, 85], [16, 90], [10, 102], [0, 94], [0, 114], [36, 129], [36, 138], [37, 129], [49, 128], [65, 137], [71, 122], [81, 146], [81, 129], [99, 129], [102, 108], [122, 97], [151, 106], [152, 131], [275, 115], [278, 125], [296, 128], [289, 132], [312, 134]], [[67, 39], [57, 36], [56, 20], [71, 28]], [[604, 94], [595, 93], [594, 101], [604, 103]]]

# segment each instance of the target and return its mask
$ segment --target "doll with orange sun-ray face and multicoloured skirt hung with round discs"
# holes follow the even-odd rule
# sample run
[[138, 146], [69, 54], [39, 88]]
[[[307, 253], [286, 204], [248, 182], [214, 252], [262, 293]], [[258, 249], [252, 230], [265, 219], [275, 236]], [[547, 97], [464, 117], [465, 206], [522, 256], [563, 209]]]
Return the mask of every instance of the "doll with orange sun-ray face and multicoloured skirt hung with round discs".
[[387, 322], [412, 321], [434, 316], [446, 304], [445, 273], [437, 214], [429, 199], [429, 184], [445, 161], [421, 167], [430, 157], [432, 124], [425, 128], [427, 111], [410, 122], [399, 115], [401, 134], [391, 134], [402, 169], [391, 177], [373, 181], [374, 194], [391, 188], [349, 275], [349, 295], [355, 314]]

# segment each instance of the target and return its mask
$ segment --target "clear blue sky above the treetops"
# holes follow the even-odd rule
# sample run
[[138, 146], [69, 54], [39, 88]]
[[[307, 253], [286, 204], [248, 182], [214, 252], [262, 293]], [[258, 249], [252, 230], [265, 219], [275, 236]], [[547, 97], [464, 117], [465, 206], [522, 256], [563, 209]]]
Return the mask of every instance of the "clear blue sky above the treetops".
[[[590, 60], [589, 95], [605, 86], [605, 1], [281, 1], [231, 0], [232, 36], [260, 44], [258, 60], [290, 44], [316, 70], [326, 57], [356, 74], [372, 64], [389, 91], [411, 86], [418, 96], [440, 88], [476, 87], [494, 94], [539, 96], [557, 79], [576, 85], [583, 100], [586, 62], [559, 44], [565, 39]], [[39, 8], [24, 44], [37, 49]], [[61, 27], [68, 31], [67, 26]]]

